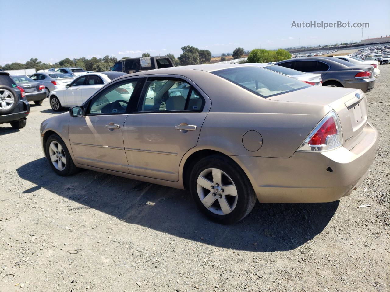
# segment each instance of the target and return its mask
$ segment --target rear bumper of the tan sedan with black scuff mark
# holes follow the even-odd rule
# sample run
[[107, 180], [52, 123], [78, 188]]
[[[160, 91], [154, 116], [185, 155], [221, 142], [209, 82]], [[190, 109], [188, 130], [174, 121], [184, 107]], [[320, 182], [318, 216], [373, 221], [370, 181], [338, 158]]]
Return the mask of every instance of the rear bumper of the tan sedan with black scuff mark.
[[349, 195], [365, 179], [378, 146], [370, 123], [353, 149], [295, 152], [290, 158], [232, 156], [264, 203], [332, 202]]

